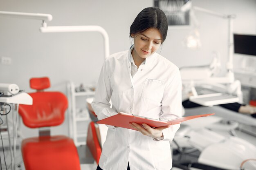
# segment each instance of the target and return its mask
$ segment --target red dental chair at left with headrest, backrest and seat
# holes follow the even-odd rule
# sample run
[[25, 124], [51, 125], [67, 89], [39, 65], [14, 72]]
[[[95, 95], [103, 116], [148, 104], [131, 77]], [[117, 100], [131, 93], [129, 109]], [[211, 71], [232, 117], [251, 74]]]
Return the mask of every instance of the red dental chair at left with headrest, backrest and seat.
[[61, 92], [45, 92], [50, 87], [48, 77], [31, 78], [30, 87], [37, 90], [29, 93], [33, 105], [20, 105], [19, 114], [29, 128], [39, 128], [39, 137], [24, 139], [21, 144], [26, 170], [80, 170], [76, 146], [71, 138], [51, 136], [45, 127], [63, 123], [68, 103]]

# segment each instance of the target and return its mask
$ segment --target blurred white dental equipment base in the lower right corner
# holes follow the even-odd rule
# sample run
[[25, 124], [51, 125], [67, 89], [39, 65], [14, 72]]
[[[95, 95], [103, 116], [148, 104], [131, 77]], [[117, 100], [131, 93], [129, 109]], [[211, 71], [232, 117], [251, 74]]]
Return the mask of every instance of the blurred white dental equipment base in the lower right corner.
[[[184, 170], [255, 170], [256, 146], [236, 136], [225, 137], [207, 127], [192, 129], [182, 126], [179, 130], [183, 135], [179, 135], [178, 130], [173, 142], [173, 147], [177, 146], [173, 167]], [[197, 159], [193, 160], [192, 157]]]

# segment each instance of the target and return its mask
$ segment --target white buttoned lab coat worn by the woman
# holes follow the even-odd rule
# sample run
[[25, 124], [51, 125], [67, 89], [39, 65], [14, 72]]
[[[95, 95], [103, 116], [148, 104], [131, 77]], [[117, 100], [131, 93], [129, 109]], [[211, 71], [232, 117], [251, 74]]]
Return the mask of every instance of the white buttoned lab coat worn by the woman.
[[[172, 62], [154, 53], [131, 76], [131, 50], [110, 55], [104, 62], [92, 108], [98, 119], [125, 112], [162, 121], [181, 117], [181, 77]], [[110, 99], [112, 108], [110, 108]], [[163, 130], [155, 141], [135, 130], [108, 126], [99, 166], [103, 170], [170, 170], [169, 141], [180, 125]]]

